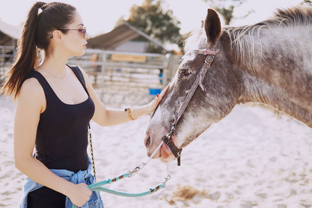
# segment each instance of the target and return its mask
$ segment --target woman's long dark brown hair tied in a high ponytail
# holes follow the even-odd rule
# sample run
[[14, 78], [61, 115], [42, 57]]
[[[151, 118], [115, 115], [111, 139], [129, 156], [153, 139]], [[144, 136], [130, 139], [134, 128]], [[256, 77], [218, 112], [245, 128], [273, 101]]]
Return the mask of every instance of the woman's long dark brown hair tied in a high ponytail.
[[[44, 50], [46, 56], [53, 51], [50, 47], [54, 30], [66, 28], [74, 21], [76, 8], [67, 3], [36, 2], [28, 12], [17, 43], [15, 62], [6, 73], [6, 82], [1, 94], [17, 98], [24, 80], [35, 67], [38, 67], [38, 51]], [[64, 31], [63, 33], [66, 33]]]

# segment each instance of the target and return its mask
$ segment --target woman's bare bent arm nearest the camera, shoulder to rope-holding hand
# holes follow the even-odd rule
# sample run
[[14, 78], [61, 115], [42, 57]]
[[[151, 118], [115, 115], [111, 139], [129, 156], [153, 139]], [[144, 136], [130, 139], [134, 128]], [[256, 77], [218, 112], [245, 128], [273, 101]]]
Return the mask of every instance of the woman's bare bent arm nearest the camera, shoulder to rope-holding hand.
[[15, 166], [31, 180], [63, 193], [74, 205], [81, 207], [89, 200], [92, 191], [85, 184], [73, 184], [52, 173], [32, 156], [40, 113], [44, 111], [45, 105], [44, 91], [38, 80], [26, 80], [19, 93], [15, 110]]

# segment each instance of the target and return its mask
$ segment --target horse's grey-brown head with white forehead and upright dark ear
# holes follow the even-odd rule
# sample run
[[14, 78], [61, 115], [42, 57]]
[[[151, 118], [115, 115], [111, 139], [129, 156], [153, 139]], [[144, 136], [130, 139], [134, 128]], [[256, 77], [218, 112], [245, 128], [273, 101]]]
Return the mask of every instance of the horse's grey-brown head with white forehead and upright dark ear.
[[[217, 13], [215, 10], [208, 9], [204, 28], [199, 31], [198, 35], [191, 35], [188, 38], [186, 54], [183, 56], [179, 69], [151, 117], [145, 138], [148, 156], [161, 144], [162, 137], [170, 132], [181, 104], [202, 70], [207, 55], [196, 53], [199, 50], [211, 49], [215, 46], [215, 49], [220, 51], [215, 55], [215, 60], [201, 82], [204, 87], [197, 87], [186, 110], [175, 125], [171, 138], [174, 144], [178, 148], [187, 146], [211, 124], [227, 116], [238, 102], [240, 87], [237, 80], [239, 76], [233, 72], [235, 69], [226, 55], [229, 52], [229, 41], [225, 43], [222, 36]], [[163, 162], [174, 159], [165, 144], [154, 156], [154, 158], [159, 157]]]

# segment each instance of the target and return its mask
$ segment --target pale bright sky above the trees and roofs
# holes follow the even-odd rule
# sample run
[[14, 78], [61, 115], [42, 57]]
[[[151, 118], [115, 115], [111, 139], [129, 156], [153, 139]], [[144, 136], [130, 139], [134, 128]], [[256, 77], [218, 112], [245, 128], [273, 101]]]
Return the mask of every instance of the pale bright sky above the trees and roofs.
[[[117, 19], [124, 15], [129, 17], [129, 10], [133, 4], [142, 5], [144, 0], [58, 0], [70, 3], [77, 8], [83, 17], [83, 23], [91, 37], [111, 31]], [[202, 0], [164, 0], [165, 6], [174, 12], [174, 16], [181, 21], [181, 34], [199, 28], [205, 19], [208, 3]], [[231, 25], [254, 24], [257, 21], [271, 17], [276, 8], [296, 6], [303, 0], [248, 0], [240, 6]], [[0, 0], [0, 19], [8, 24], [21, 25], [26, 19], [28, 10], [34, 0]], [[50, 1], [44, 1], [50, 2]], [[251, 15], [242, 18], [247, 11], [254, 10]], [[222, 19], [222, 18], [221, 18]]]

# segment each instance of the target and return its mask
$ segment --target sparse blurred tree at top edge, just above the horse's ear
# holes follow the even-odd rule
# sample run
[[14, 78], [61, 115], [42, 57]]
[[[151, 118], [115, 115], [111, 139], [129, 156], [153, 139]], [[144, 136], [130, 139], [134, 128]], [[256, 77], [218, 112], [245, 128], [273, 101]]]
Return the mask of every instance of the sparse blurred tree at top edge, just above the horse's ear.
[[[234, 9], [247, 0], [203, 0], [210, 4], [210, 6], [222, 15], [224, 24], [229, 25], [233, 19]], [[247, 12], [247, 17], [252, 11]]]

